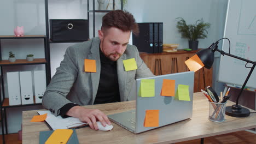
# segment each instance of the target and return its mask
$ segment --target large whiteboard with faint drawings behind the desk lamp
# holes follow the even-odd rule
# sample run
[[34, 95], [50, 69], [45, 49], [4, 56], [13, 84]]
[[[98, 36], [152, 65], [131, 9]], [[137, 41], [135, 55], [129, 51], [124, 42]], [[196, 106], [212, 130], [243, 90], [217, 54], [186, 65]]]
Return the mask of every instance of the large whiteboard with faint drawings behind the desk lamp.
[[[256, 61], [256, 1], [229, 0], [224, 37], [230, 39], [231, 55]], [[229, 52], [228, 40], [223, 40], [222, 50]], [[220, 56], [218, 81], [242, 86], [251, 69], [246, 62], [229, 56]], [[252, 64], [247, 64], [252, 67]], [[246, 87], [256, 88], [256, 68]]]

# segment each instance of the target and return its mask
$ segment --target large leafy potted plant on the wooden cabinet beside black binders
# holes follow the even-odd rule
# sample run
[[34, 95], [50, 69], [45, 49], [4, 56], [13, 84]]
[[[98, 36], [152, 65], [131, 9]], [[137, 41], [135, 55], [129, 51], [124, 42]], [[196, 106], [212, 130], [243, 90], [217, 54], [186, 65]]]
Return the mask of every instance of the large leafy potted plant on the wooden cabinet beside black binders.
[[210, 28], [211, 24], [208, 22], [203, 22], [203, 19], [197, 20], [195, 25], [187, 25], [186, 21], [178, 17], [177, 22], [178, 31], [181, 33], [182, 38], [189, 40], [189, 49], [197, 50], [198, 48], [198, 39], [207, 38], [208, 31], [207, 28]]

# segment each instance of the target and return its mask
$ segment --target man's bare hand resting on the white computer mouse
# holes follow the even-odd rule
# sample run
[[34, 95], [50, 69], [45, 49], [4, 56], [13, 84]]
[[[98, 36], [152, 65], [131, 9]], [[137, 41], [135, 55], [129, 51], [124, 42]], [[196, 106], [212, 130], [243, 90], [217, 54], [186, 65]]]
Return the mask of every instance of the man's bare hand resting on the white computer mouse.
[[110, 125], [110, 121], [103, 112], [97, 109], [85, 109], [82, 106], [74, 106], [67, 113], [67, 116], [77, 117], [80, 121], [86, 122], [91, 129], [98, 130], [97, 120], [105, 127], [106, 123]]

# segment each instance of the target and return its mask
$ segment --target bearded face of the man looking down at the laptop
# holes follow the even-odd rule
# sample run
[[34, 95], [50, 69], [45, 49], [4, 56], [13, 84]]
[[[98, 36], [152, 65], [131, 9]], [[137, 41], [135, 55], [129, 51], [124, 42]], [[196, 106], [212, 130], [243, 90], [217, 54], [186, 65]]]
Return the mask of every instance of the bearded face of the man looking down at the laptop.
[[104, 31], [98, 31], [101, 39], [100, 48], [111, 61], [117, 61], [126, 50], [131, 32], [123, 32], [121, 29], [111, 27]]

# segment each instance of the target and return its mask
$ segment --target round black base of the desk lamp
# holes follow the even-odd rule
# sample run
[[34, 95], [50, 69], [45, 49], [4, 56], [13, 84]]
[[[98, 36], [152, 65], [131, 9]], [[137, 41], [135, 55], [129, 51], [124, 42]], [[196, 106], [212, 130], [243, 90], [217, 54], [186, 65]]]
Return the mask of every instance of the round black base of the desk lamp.
[[232, 105], [226, 107], [225, 113], [231, 117], [248, 117], [251, 112], [240, 105]]

